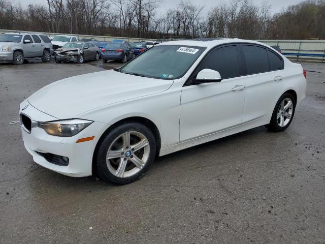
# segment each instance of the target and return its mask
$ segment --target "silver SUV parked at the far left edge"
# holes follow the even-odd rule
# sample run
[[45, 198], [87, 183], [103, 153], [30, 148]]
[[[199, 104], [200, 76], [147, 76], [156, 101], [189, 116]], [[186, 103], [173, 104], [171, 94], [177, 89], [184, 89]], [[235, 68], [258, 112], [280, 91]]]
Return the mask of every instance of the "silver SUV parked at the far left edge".
[[21, 65], [28, 58], [42, 58], [43, 62], [50, 62], [52, 54], [52, 43], [46, 35], [5, 33], [0, 36], [0, 63]]

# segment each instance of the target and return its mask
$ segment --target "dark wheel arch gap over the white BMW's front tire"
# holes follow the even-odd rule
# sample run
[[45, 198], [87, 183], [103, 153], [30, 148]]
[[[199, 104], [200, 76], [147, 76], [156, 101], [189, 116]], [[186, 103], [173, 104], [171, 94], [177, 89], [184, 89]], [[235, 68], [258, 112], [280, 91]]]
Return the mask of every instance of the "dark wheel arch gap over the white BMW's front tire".
[[159, 155], [160, 151], [160, 146], [161, 146], [161, 138], [160, 138], [160, 132], [157, 128], [157, 126], [148, 118], [146, 117], [141, 117], [141, 116], [132, 116], [132, 117], [126, 117], [123, 119], [120, 119], [116, 121], [114, 124], [109, 126], [109, 128], [106, 129], [106, 131], [101, 135], [100, 139], [96, 143], [93, 156], [92, 156], [92, 175], [96, 174], [96, 157], [97, 157], [97, 152], [99, 150], [99, 147], [104, 140], [105, 136], [110, 133], [112, 130], [114, 130], [116, 127], [122, 125], [122, 124], [127, 124], [127, 123], [139, 123], [142, 124], [146, 127], [148, 127], [151, 132], [154, 135], [154, 138], [156, 140], [156, 145], [157, 145], [157, 150], [156, 150], [156, 155]]

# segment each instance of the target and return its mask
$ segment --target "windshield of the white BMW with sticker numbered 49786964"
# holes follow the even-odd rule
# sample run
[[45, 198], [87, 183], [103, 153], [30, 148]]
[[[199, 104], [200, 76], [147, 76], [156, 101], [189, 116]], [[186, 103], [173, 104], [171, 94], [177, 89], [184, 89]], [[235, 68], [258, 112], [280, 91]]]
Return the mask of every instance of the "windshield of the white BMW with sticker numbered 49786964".
[[151, 78], [178, 79], [187, 72], [204, 50], [205, 47], [154, 46], [119, 71]]

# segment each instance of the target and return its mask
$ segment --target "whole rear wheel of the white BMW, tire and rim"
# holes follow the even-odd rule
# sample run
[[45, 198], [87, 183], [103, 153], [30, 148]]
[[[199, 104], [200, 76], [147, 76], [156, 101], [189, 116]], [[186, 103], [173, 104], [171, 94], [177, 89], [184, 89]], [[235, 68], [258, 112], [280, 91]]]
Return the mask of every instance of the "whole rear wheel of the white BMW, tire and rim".
[[270, 124], [267, 125], [267, 128], [275, 132], [284, 131], [293, 120], [295, 108], [295, 98], [289, 93], [283, 94], [275, 105]]

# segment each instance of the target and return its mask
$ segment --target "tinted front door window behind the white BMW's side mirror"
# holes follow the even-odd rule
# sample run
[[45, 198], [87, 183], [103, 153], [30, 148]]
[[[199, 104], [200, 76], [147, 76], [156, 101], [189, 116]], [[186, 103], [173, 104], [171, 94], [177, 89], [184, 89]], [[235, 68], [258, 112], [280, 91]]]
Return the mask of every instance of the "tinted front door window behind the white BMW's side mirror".
[[218, 71], [222, 79], [238, 76], [237, 47], [225, 46], [212, 50], [204, 58], [199, 70], [203, 69]]

